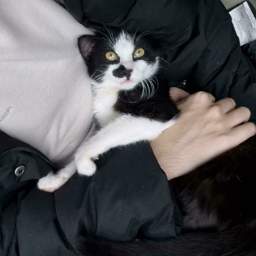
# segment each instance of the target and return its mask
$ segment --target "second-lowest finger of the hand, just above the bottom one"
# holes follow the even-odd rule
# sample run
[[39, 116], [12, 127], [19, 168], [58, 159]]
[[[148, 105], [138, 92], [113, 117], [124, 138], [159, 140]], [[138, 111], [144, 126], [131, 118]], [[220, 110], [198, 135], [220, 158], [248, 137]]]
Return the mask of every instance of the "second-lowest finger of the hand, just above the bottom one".
[[248, 108], [240, 107], [225, 115], [225, 122], [229, 127], [235, 127], [249, 120], [251, 112]]

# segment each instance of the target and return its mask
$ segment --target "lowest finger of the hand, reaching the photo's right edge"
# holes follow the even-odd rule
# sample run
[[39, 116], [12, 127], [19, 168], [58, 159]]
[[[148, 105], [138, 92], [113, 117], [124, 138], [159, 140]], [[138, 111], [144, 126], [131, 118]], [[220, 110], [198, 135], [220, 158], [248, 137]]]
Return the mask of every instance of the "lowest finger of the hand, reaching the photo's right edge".
[[245, 140], [249, 139], [256, 133], [256, 126], [253, 123], [245, 123], [238, 125], [231, 129], [231, 132], [228, 136], [231, 136], [230, 140], [230, 147], [236, 147], [240, 143], [244, 142]]

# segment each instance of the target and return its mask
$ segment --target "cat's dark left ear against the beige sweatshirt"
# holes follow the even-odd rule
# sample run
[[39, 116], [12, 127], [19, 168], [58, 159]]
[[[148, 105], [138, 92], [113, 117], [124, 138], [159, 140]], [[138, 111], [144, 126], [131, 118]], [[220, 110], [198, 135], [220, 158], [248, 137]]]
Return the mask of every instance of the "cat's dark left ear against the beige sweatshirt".
[[82, 35], [78, 38], [78, 47], [85, 61], [89, 60], [91, 52], [101, 41], [96, 35]]

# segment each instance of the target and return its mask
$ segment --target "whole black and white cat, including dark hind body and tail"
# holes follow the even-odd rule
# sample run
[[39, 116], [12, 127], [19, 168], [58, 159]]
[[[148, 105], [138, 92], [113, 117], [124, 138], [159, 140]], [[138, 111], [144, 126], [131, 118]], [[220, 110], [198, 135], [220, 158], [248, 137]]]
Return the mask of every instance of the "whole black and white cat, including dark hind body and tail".
[[[176, 122], [179, 112], [169, 97], [169, 85], [160, 84], [161, 78], [157, 77], [161, 60], [158, 47], [144, 34], [136, 37], [136, 33], [122, 31], [117, 35], [109, 33], [106, 38], [84, 35], [78, 39], [92, 78], [93, 111], [99, 129], [80, 145], [71, 163], [57, 174], [41, 178], [39, 189], [53, 192], [76, 169], [80, 174], [93, 175], [93, 160], [98, 155], [112, 147], [152, 140]], [[254, 253], [255, 153], [256, 136], [170, 181], [184, 219], [182, 236], [127, 243], [84, 237], [78, 241], [78, 251], [87, 256]]]

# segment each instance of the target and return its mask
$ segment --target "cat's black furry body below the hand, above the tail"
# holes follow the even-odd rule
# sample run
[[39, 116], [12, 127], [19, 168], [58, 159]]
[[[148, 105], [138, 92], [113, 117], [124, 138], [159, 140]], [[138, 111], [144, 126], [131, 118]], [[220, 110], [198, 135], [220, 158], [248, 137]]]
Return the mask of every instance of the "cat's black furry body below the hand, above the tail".
[[[256, 136], [171, 181], [186, 228], [225, 230], [256, 219]], [[198, 211], [199, 209], [199, 211]], [[214, 217], [212, 225], [209, 218]]]

